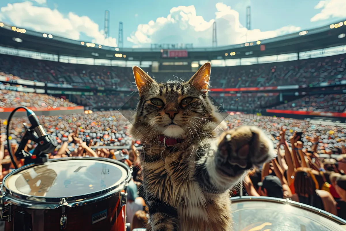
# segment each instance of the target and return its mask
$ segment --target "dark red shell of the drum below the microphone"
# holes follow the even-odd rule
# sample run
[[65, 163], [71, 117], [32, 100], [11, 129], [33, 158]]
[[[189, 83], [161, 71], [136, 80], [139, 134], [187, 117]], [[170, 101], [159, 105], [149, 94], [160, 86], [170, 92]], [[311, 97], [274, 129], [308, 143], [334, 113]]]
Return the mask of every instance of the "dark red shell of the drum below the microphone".
[[[100, 202], [91, 203], [83, 206], [66, 207], [67, 215], [66, 231], [125, 231], [125, 206], [120, 206], [120, 193], [109, 197]], [[99, 212], [107, 211], [106, 219], [93, 224], [93, 215]], [[25, 223], [27, 227], [32, 227], [33, 231], [61, 231], [60, 217], [62, 207], [56, 209], [38, 210], [22, 208], [12, 205], [14, 214], [11, 222], [5, 223], [5, 231], [26, 231], [23, 229], [21, 219], [16, 214], [25, 214]], [[18, 220], [19, 218], [19, 220]], [[30, 222], [30, 223], [29, 223]]]

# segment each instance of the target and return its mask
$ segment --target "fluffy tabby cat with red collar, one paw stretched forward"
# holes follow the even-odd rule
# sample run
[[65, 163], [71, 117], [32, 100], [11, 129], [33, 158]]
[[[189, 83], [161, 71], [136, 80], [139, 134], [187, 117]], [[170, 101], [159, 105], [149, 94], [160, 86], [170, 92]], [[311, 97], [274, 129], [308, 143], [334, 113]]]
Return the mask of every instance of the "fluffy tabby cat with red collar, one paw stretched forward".
[[130, 133], [143, 143], [148, 231], [233, 230], [229, 190], [275, 157], [257, 127], [224, 132], [208, 96], [210, 70], [208, 62], [187, 82], [161, 83], [133, 67], [140, 99]]

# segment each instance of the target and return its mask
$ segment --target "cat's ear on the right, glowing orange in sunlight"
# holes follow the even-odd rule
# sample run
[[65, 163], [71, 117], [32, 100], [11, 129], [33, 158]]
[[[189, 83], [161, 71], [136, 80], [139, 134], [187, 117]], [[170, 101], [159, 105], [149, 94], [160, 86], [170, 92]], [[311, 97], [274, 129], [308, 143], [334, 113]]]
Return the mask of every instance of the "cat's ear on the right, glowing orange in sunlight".
[[190, 85], [194, 86], [198, 90], [207, 93], [209, 86], [210, 71], [210, 62], [204, 63], [203, 66], [201, 66], [201, 68], [189, 80]]

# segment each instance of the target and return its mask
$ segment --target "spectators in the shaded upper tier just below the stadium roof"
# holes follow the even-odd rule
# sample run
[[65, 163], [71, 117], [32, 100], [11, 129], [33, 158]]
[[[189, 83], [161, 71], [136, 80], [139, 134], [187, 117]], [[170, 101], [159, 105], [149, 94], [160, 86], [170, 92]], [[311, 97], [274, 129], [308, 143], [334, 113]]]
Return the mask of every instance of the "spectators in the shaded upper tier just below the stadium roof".
[[[310, 85], [321, 82], [340, 83], [346, 79], [345, 54], [288, 62], [214, 67], [211, 75], [213, 88], [264, 87], [281, 85]], [[157, 80], [190, 78], [189, 73], [151, 73]], [[130, 67], [98, 66], [34, 60], [1, 55], [0, 71], [21, 79], [73, 83], [90, 87], [133, 88]]]

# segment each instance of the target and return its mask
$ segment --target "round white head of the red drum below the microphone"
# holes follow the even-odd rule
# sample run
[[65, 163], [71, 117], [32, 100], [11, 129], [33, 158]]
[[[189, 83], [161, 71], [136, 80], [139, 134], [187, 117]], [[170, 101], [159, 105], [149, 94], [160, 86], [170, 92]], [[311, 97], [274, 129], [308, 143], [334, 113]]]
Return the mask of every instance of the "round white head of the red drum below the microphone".
[[[19, 170], [19, 171], [18, 171]], [[83, 198], [113, 189], [129, 177], [129, 171], [101, 158], [63, 158], [11, 172], [4, 187], [12, 194], [47, 198]]]

